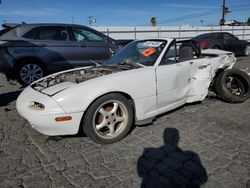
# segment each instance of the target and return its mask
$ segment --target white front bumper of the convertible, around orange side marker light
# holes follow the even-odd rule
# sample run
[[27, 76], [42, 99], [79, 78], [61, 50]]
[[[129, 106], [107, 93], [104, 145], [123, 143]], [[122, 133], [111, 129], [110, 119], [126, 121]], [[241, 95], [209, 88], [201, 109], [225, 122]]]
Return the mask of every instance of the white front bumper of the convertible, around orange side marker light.
[[[31, 101], [45, 105], [44, 110], [35, 110], [29, 107]], [[27, 119], [38, 132], [49, 135], [72, 135], [79, 130], [83, 112], [66, 113], [51, 97], [27, 87], [18, 97], [16, 108], [19, 114]], [[56, 117], [71, 116], [69, 121], [57, 122]]]

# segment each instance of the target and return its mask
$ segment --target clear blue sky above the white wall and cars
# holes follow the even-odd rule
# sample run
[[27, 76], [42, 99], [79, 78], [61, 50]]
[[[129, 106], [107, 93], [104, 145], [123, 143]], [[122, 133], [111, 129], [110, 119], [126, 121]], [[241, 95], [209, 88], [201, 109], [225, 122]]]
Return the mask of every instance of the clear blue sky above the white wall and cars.
[[[92, 16], [97, 20], [96, 26], [147, 26], [152, 17], [157, 17], [160, 26], [218, 24], [222, 5], [222, 0], [1, 1], [0, 23], [71, 23], [73, 17], [74, 23], [88, 25], [88, 16]], [[250, 16], [249, 0], [226, 0], [226, 4], [232, 11], [226, 20], [246, 21]]]

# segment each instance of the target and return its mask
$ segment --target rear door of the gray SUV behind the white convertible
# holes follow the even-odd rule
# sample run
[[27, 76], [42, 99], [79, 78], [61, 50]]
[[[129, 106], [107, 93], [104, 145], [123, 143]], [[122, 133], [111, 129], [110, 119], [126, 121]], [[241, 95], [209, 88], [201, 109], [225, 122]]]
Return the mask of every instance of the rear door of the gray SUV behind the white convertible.
[[73, 68], [74, 49], [66, 26], [41, 26], [32, 43], [35, 56], [49, 71]]

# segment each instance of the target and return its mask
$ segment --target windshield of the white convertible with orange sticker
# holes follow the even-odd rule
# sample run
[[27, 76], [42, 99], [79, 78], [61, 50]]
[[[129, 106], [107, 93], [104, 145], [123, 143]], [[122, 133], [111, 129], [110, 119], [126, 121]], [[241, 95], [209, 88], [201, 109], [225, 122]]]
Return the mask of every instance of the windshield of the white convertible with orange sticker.
[[166, 46], [164, 40], [134, 41], [122, 48], [106, 64], [138, 64], [152, 66]]

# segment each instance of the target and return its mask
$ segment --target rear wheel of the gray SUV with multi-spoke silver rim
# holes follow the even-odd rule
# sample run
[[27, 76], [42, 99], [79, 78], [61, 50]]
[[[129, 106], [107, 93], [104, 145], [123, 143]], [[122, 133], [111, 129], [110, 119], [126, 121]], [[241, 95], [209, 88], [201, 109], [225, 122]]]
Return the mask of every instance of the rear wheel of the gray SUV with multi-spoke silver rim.
[[35, 60], [24, 60], [18, 63], [16, 77], [20, 84], [27, 86], [45, 76], [44, 66], [33, 61]]

